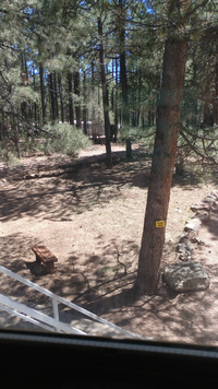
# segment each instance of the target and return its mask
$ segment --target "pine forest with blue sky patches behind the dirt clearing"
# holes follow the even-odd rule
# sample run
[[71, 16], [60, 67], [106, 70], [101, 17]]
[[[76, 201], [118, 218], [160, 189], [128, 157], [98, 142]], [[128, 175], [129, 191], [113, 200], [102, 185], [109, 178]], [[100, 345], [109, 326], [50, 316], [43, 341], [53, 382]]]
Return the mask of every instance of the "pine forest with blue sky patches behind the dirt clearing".
[[153, 142], [165, 42], [169, 35], [183, 35], [189, 49], [180, 164], [187, 149], [213, 158], [218, 125], [216, 1], [3, 0], [0, 11], [4, 156], [9, 143], [21, 157], [41, 137], [48, 153], [51, 139], [59, 140], [56, 149], [63, 148], [60, 134], [71, 153], [66, 132], [75, 126], [90, 133], [90, 122], [94, 135], [104, 132], [104, 113], [121, 127], [122, 138], [150, 135]]

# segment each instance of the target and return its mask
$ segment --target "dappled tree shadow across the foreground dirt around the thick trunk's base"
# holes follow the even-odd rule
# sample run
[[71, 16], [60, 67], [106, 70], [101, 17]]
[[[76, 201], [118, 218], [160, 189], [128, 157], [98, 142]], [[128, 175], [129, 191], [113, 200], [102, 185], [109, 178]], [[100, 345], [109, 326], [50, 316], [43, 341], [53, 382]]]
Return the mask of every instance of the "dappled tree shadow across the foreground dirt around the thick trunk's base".
[[[104, 251], [108, 256], [109, 273], [99, 271], [106, 267], [104, 256], [71, 252], [65, 262], [57, 264], [53, 274], [44, 276], [31, 274], [25, 263], [33, 261], [31, 247], [36, 243], [22, 234], [1, 238], [1, 264], [126, 330], [154, 340], [217, 344], [217, 264], [206, 269], [211, 280], [207, 291], [178, 294], [164, 284], [158, 295], [138, 297], [132, 290], [136, 278], [135, 268], [128, 266], [122, 254], [119, 260], [124, 266], [119, 264], [119, 273], [113, 272], [111, 276], [117, 263], [114, 239], [110, 245], [105, 245]], [[126, 251], [132, 249], [137, 254], [138, 248], [132, 241], [125, 241], [124, 246]], [[121, 251], [120, 247], [119, 250]], [[81, 258], [83, 266], [80, 268]], [[48, 297], [4, 275], [0, 278], [0, 293], [24, 298], [27, 304], [37, 303], [51, 307]]]

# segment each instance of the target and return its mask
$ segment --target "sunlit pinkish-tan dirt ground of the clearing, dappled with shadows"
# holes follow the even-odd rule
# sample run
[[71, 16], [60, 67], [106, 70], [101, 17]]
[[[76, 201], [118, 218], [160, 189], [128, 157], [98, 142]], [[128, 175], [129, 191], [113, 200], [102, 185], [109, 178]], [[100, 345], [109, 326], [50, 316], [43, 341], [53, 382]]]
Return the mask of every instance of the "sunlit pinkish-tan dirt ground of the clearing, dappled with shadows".
[[[154, 340], [218, 345], [218, 207], [194, 248], [210, 278], [207, 291], [178, 294], [162, 284], [157, 296], [134, 299], [146, 205], [150, 154], [112, 145], [114, 165], [105, 168], [104, 145], [70, 157], [35, 156], [13, 169], [0, 164], [0, 264], [116, 325]], [[177, 244], [190, 207], [217, 189], [197, 175], [173, 176], [162, 268], [177, 261]], [[32, 247], [46, 245], [57, 257], [53, 274], [34, 274]], [[0, 293], [22, 296], [24, 287], [0, 278]], [[28, 300], [44, 304], [35, 292]]]

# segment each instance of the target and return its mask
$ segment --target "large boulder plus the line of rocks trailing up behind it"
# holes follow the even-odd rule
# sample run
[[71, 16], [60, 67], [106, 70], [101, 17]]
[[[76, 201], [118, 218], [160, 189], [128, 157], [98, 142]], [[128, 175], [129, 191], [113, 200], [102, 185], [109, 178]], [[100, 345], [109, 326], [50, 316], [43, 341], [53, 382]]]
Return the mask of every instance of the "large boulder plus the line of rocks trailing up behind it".
[[193, 204], [191, 210], [195, 213], [184, 226], [178, 244], [179, 262], [165, 268], [164, 279], [169, 287], [178, 292], [203, 291], [209, 286], [209, 278], [203, 267], [191, 262], [193, 244], [204, 245], [197, 238], [202, 223], [209, 219], [209, 214], [218, 200], [218, 191], [211, 192], [199, 203]]

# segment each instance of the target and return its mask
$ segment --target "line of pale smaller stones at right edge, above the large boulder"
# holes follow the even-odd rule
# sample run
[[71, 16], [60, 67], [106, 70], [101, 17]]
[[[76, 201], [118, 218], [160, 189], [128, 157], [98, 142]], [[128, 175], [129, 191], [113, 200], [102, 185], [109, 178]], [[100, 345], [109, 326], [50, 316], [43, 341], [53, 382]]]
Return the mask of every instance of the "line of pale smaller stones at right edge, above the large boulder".
[[179, 240], [177, 251], [179, 252], [179, 260], [190, 261], [192, 259], [192, 244], [204, 245], [204, 241], [201, 241], [197, 238], [198, 231], [202, 226], [202, 223], [206, 222], [218, 200], [218, 190], [213, 191], [208, 194], [203, 201], [191, 205], [191, 210], [195, 212], [195, 215], [186, 222], [181, 238]]

